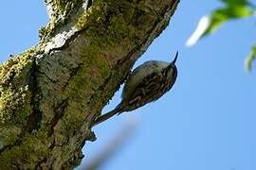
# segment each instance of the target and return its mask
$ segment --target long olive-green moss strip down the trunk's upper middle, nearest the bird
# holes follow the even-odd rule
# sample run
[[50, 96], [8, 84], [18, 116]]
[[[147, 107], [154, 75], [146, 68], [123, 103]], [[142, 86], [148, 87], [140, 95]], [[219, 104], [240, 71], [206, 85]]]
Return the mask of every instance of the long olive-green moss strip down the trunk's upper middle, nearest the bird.
[[[101, 85], [104, 84], [103, 80], [106, 77], [115, 76], [114, 84], [123, 76], [112, 73], [113, 63], [108, 58], [117, 57], [118, 60], [120, 51], [129, 50], [134, 46], [132, 40], [137, 33], [136, 26], [130, 25], [126, 21], [132, 19], [131, 12], [133, 13], [134, 10], [131, 3], [127, 2], [96, 1], [94, 6], [86, 10], [79, 18], [77, 28], [83, 30], [89, 27], [84, 34], [90, 44], [83, 47], [82, 64], [66, 88], [66, 98], [72, 96], [69, 98], [69, 107], [65, 112], [67, 117], [72, 117], [68, 114], [74, 114], [74, 112], [76, 112], [76, 116], [81, 115], [82, 117], [86, 110], [85, 106], [98, 108], [98, 106], [102, 106], [102, 101], [107, 101], [107, 98], [113, 95], [115, 87], [110, 92], [104, 91], [105, 98], [101, 98], [101, 101], [84, 98], [91, 96], [92, 93], [101, 93]], [[89, 105], [87, 102], [90, 102]], [[78, 103], [79, 106], [77, 106]], [[79, 119], [77, 121], [79, 122]]]

